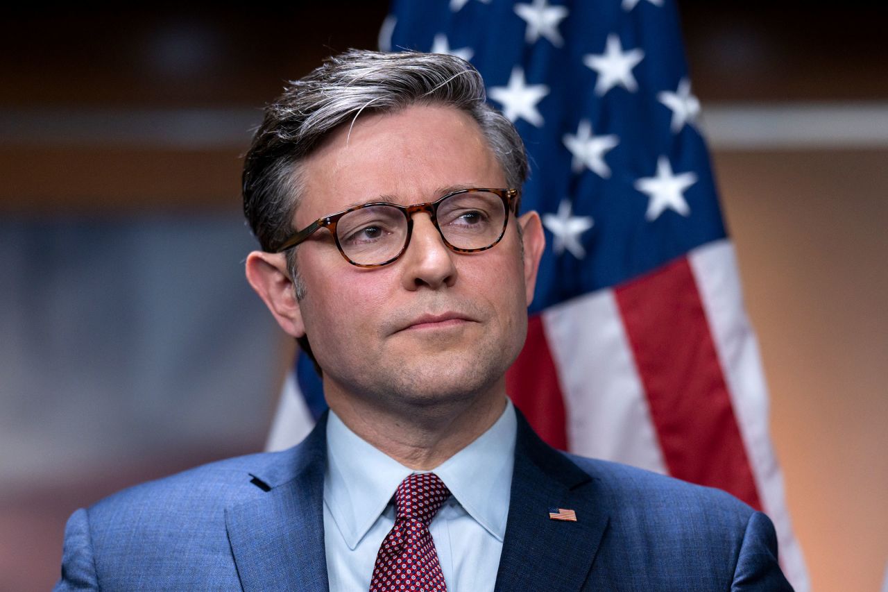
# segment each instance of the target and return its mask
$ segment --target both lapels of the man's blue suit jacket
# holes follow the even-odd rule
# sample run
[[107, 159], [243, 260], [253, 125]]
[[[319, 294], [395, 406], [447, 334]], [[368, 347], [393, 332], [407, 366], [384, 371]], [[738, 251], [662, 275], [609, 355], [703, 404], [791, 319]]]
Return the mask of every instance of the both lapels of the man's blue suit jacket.
[[[596, 504], [604, 496], [596, 493], [596, 480], [544, 444], [517, 415], [496, 592], [579, 590], [607, 528], [607, 511]], [[329, 588], [323, 540], [326, 430], [325, 413], [302, 444], [274, 454], [272, 462], [252, 474], [268, 488], [266, 493], [226, 509], [228, 539], [244, 590]], [[549, 508], [573, 509], [577, 520], [551, 520]]]

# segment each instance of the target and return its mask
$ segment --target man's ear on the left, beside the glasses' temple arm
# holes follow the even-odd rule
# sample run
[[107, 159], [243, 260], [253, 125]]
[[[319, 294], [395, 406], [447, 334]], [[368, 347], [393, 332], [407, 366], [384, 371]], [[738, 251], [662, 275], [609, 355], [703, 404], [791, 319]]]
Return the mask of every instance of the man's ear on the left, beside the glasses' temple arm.
[[281, 329], [293, 337], [305, 335], [302, 312], [283, 253], [254, 251], [247, 255], [247, 281], [272, 312]]

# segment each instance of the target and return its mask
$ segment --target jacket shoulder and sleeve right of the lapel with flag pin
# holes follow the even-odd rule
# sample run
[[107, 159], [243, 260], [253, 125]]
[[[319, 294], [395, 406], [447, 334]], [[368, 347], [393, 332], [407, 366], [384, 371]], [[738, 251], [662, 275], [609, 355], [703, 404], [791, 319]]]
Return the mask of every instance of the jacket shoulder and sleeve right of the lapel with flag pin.
[[676, 581], [687, 589], [792, 589], [777, 562], [771, 520], [733, 495], [619, 463], [567, 458], [591, 476], [577, 489], [608, 516], [609, 545], [596, 559], [601, 588], [608, 573], [622, 574], [641, 555], [657, 567], [639, 575], [646, 581], [638, 589], [672, 589]]

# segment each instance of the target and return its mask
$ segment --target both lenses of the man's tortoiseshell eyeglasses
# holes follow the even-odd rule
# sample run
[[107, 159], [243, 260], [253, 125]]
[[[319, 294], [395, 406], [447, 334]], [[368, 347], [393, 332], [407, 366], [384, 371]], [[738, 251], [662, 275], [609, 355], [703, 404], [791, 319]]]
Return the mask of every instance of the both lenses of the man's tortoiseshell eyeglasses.
[[[502, 198], [485, 191], [448, 196], [436, 212], [441, 236], [457, 249], [483, 249], [496, 243], [505, 216]], [[407, 232], [407, 216], [392, 205], [369, 205], [348, 212], [337, 223], [342, 251], [361, 265], [396, 257], [404, 248]]]

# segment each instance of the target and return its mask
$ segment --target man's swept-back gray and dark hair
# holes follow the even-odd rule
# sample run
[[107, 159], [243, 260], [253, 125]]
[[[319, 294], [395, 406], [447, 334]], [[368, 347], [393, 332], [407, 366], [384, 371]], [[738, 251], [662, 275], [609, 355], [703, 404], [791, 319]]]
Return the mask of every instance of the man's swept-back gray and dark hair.
[[[362, 112], [396, 113], [411, 105], [464, 111], [479, 124], [509, 187], [520, 189], [527, 179], [524, 144], [486, 98], [478, 70], [440, 53], [351, 50], [289, 83], [266, 107], [243, 164], [243, 212], [262, 249], [276, 251], [293, 232], [302, 194], [300, 164]], [[290, 253], [291, 269], [294, 260]], [[298, 283], [297, 288], [304, 289]]]

